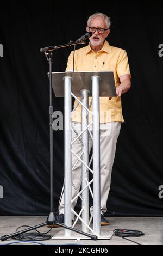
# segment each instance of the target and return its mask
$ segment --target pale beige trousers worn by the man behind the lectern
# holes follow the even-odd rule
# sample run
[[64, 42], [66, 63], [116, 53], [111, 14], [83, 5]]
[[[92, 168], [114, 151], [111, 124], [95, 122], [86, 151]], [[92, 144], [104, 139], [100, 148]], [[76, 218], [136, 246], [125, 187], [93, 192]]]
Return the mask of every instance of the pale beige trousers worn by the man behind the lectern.
[[[73, 122], [78, 134], [82, 129], [81, 123]], [[121, 122], [101, 123], [100, 124], [100, 154], [101, 154], [101, 214], [106, 212], [106, 202], [110, 190], [111, 170], [114, 163], [114, 157], [116, 152], [117, 138], [120, 134]], [[90, 127], [92, 133], [92, 126]], [[72, 130], [72, 141], [76, 138], [76, 134]], [[92, 148], [92, 139], [89, 135], [89, 152]], [[72, 145], [72, 150], [79, 156], [82, 152], [82, 144], [79, 139]], [[72, 154], [72, 167], [76, 163], [77, 158]], [[72, 172], [72, 182], [76, 186], [77, 190], [80, 190], [82, 182], [82, 164], [78, 161], [76, 168]], [[77, 192], [72, 187], [72, 198], [75, 197]], [[72, 204], [72, 208], [75, 207], [77, 200]], [[60, 214], [64, 214], [64, 195], [60, 199], [59, 206]], [[91, 215], [93, 213], [93, 206], [90, 208]], [[73, 216], [72, 216], [73, 218]]]

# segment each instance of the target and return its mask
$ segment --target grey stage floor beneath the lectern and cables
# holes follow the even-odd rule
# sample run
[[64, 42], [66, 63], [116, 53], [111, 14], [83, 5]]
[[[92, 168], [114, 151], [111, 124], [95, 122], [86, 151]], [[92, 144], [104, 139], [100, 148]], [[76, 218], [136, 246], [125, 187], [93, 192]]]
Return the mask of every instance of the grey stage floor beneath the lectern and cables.
[[[107, 218], [107, 217], [106, 217]], [[129, 238], [142, 245], [163, 245], [163, 217], [108, 217], [109, 226], [101, 227], [101, 231], [113, 231], [114, 229], [134, 229], [140, 230], [145, 233], [145, 236]], [[21, 216], [0, 216], [0, 236], [10, 235], [16, 231], [21, 225], [34, 226], [46, 221], [46, 217], [21, 217]], [[77, 224], [76, 228], [81, 230], [81, 224]], [[25, 229], [25, 228], [23, 228]], [[21, 229], [20, 229], [21, 230]], [[18, 230], [18, 231], [20, 231]], [[64, 228], [53, 228], [48, 234], [56, 235]], [[39, 231], [45, 233], [48, 231], [47, 227], [39, 228]], [[33, 230], [32, 232], [35, 232]], [[7, 244], [16, 242], [16, 240], [8, 239], [1, 244]], [[46, 245], [135, 245], [135, 243], [117, 237], [112, 236], [110, 240], [83, 240], [78, 239], [51, 239], [46, 241], [40, 241]], [[33, 243], [17, 243], [17, 245], [30, 245]]]

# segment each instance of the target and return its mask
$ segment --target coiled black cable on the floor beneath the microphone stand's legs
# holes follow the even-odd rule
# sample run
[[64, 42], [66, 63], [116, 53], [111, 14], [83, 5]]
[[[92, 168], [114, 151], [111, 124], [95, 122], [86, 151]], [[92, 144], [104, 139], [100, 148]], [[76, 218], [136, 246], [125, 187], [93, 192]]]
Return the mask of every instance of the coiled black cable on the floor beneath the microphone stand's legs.
[[[22, 227], [29, 227], [29, 228], [31, 228], [28, 225], [23, 225], [23, 226], [18, 227], [16, 229], [16, 232], [17, 232], [18, 229], [20, 229]], [[48, 239], [52, 238], [52, 235], [46, 235], [46, 234], [49, 233], [49, 231], [51, 231], [51, 229], [49, 229], [46, 233], [41, 233], [37, 229], [34, 229], [34, 230], [37, 231], [37, 233], [35, 233], [35, 232], [26, 232], [26, 233], [23, 233], [23, 234], [20, 234], [20, 235], [17, 235], [17, 236], [13, 236], [12, 238], [16, 239], [16, 240], [20, 240], [20, 241], [22, 241], [22, 240], [26, 240], [26, 241], [43, 241], [43, 240], [48, 240]]]

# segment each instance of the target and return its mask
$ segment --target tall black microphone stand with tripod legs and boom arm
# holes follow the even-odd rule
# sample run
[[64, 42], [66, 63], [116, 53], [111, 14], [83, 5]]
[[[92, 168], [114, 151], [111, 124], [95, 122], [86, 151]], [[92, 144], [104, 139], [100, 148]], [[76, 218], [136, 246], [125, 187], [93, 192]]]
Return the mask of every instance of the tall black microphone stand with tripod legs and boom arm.
[[72, 46], [72, 45], [78, 45], [78, 44], [85, 44], [85, 40], [81, 40], [80, 42], [72, 42], [70, 41], [68, 44], [65, 45], [58, 45], [58, 46], [47, 46], [44, 48], [40, 49], [40, 52], [44, 52], [45, 56], [48, 60], [49, 63], [49, 130], [50, 130], [50, 194], [51, 194], [51, 210], [50, 213], [47, 217], [46, 222], [41, 223], [39, 225], [35, 225], [34, 227], [31, 228], [27, 228], [27, 229], [23, 229], [21, 231], [18, 231], [16, 233], [10, 234], [10, 235], [4, 235], [1, 236], [1, 241], [5, 241], [10, 237], [14, 237], [17, 235], [21, 235], [23, 233], [26, 233], [28, 231], [37, 229], [37, 228], [41, 228], [44, 227], [45, 225], [54, 225], [57, 224], [60, 227], [66, 228], [66, 229], [70, 229], [72, 231], [75, 231], [79, 234], [85, 235], [90, 237], [92, 240], [97, 240], [97, 236], [96, 235], [91, 235], [88, 233], [85, 233], [83, 231], [80, 231], [78, 229], [74, 229], [71, 227], [67, 227], [66, 225], [62, 225], [60, 223], [56, 222], [56, 217], [55, 217], [55, 213], [54, 213], [54, 181], [53, 181], [53, 101], [52, 101], [52, 64], [53, 64], [53, 51], [57, 50], [58, 48], [63, 48], [63, 47], [68, 47], [68, 46]]

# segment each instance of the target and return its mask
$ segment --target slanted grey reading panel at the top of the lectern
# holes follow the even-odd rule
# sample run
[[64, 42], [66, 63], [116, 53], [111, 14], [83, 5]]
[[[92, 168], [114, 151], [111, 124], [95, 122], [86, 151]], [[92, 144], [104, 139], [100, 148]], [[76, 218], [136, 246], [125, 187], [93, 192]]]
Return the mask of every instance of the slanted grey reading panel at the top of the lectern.
[[[89, 90], [89, 96], [92, 96], [92, 76], [99, 76], [99, 96], [114, 97], [116, 88], [113, 71], [83, 71], [83, 72], [52, 72], [52, 88], [56, 97], [64, 97], [64, 77], [70, 76], [71, 92], [77, 97], [81, 97], [80, 91]], [[49, 73], [48, 73], [49, 77]]]

